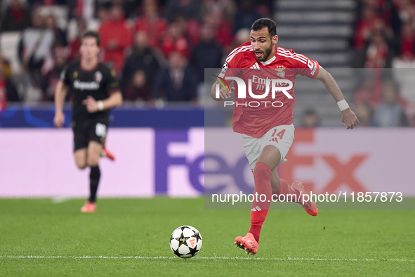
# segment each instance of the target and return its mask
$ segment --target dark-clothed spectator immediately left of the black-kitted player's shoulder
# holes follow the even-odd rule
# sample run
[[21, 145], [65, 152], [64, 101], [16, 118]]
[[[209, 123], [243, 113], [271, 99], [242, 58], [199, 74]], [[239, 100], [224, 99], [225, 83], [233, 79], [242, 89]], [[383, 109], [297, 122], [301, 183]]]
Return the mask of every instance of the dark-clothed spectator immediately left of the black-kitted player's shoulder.
[[53, 101], [56, 84], [58, 84], [60, 74], [67, 63], [68, 53], [69, 50], [66, 47], [58, 46], [53, 49], [53, 67], [42, 79], [43, 101]]

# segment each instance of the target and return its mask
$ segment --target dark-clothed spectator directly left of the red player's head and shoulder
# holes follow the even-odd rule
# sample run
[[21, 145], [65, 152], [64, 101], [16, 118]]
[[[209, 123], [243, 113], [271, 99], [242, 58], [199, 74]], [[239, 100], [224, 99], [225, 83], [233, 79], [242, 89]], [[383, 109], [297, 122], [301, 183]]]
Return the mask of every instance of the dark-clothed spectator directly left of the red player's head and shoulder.
[[205, 68], [222, 67], [222, 47], [214, 40], [213, 27], [204, 24], [201, 30], [202, 41], [193, 49], [191, 63], [197, 72], [199, 82], [204, 81]]

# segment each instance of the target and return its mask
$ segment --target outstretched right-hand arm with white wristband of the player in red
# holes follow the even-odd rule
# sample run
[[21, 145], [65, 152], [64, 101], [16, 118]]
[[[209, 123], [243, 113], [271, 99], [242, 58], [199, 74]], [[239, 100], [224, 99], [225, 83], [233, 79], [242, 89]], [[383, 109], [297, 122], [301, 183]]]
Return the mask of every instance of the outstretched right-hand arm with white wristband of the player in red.
[[331, 76], [327, 70], [320, 66], [320, 70], [315, 79], [319, 79], [324, 84], [326, 89], [333, 96], [334, 100], [338, 103], [338, 106], [341, 109], [341, 122], [344, 123], [346, 129], [353, 129], [359, 125], [360, 122], [357, 119], [355, 112], [353, 112], [348, 106], [348, 103], [345, 101], [344, 96], [341, 93], [341, 89], [338, 87], [333, 76]]

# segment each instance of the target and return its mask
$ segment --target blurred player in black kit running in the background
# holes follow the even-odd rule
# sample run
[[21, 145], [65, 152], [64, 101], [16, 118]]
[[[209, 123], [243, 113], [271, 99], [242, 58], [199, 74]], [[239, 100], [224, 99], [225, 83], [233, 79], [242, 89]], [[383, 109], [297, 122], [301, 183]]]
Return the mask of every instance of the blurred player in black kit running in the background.
[[98, 162], [102, 153], [113, 159], [103, 145], [107, 136], [110, 109], [121, 105], [122, 96], [114, 70], [99, 63], [100, 36], [87, 31], [81, 36], [80, 61], [67, 65], [62, 71], [55, 91], [56, 127], [65, 122], [63, 104], [67, 90], [74, 94], [72, 129], [74, 131], [74, 159], [79, 169], [91, 168], [90, 196], [81, 212], [96, 211], [96, 193], [100, 181]]

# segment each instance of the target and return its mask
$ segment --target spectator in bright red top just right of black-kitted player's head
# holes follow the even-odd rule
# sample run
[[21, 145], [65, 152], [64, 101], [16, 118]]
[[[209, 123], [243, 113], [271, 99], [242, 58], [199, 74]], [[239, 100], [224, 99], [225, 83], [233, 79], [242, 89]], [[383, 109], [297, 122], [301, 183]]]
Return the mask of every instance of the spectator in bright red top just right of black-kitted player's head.
[[132, 44], [132, 34], [124, 19], [121, 6], [114, 5], [110, 10], [110, 19], [99, 30], [101, 47], [104, 50], [104, 63], [112, 65], [119, 73], [124, 65], [124, 53]]

